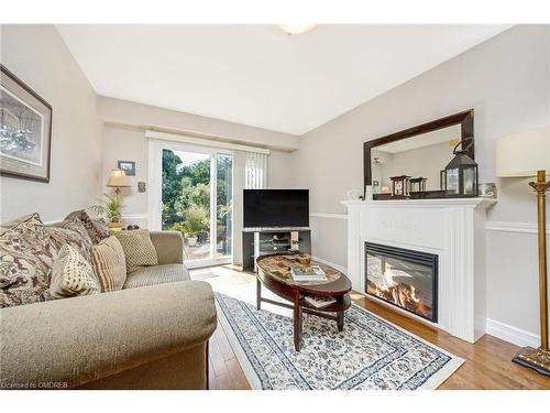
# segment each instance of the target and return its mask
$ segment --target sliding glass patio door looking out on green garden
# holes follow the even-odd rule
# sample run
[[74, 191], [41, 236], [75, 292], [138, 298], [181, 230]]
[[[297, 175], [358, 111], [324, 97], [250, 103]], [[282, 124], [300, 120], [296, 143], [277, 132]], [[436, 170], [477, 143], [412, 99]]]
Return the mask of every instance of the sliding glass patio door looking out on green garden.
[[184, 236], [190, 268], [229, 262], [232, 250], [233, 156], [184, 144], [162, 149], [163, 230]]

